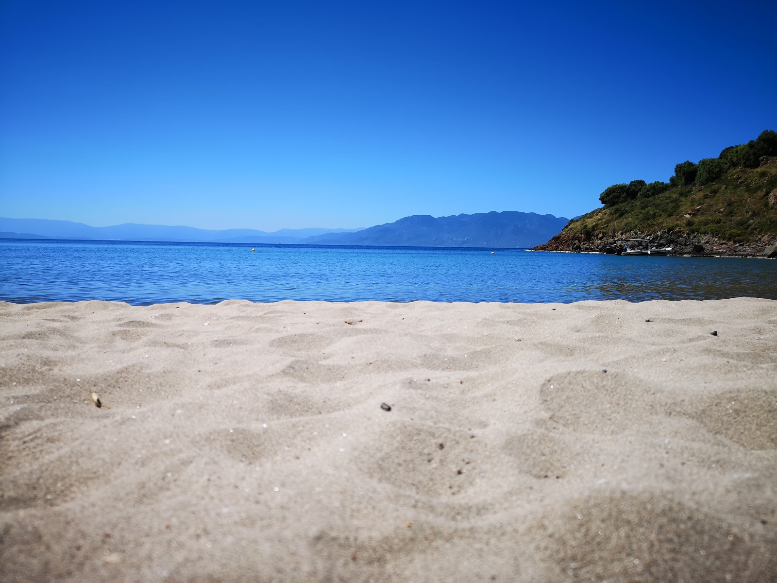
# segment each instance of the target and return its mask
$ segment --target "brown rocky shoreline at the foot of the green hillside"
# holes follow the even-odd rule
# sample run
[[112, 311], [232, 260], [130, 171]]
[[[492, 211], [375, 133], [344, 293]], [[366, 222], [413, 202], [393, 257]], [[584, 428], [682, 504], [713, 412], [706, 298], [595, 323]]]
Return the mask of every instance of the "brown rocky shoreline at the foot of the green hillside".
[[573, 251], [579, 253], [615, 253], [615, 249], [629, 243], [629, 239], [647, 239], [649, 246], [671, 247], [674, 255], [687, 257], [759, 257], [777, 258], [777, 236], [766, 235], [758, 243], [733, 243], [715, 236], [685, 232], [591, 232], [591, 236], [560, 232], [532, 251]]

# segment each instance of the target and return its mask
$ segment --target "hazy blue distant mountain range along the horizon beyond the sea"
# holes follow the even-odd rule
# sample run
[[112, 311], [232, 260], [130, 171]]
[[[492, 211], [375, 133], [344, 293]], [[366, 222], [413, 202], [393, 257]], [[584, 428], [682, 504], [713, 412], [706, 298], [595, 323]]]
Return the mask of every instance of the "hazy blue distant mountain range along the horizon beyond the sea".
[[91, 227], [83, 223], [36, 218], [0, 218], [0, 238], [98, 239], [206, 243], [297, 243], [432, 247], [517, 247], [545, 243], [569, 219], [533, 212], [492, 211], [434, 218], [413, 215], [369, 229], [207, 230], [184, 226], [137, 225]]

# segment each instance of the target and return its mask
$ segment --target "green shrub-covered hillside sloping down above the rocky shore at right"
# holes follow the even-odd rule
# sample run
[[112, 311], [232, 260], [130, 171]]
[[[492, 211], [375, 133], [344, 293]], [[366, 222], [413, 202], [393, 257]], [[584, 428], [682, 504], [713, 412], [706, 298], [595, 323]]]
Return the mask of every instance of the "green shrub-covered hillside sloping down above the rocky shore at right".
[[777, 132], [764, 131], [718, 158], [682, 162], [668, 183], [614, 184], [600, 200], [603, 208], [571, 221], [538, 249], [594, 250], [639, 235], [677, 246], [766, 244], [777, 236]]

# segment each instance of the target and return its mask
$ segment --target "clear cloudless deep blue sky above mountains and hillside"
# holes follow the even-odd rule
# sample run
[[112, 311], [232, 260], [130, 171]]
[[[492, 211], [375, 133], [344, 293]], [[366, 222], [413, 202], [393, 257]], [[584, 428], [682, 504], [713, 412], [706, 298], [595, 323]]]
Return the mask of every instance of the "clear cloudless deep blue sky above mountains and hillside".
[[773, 1], [0, 5], [5, 217], [572, 217], [777, 130]]

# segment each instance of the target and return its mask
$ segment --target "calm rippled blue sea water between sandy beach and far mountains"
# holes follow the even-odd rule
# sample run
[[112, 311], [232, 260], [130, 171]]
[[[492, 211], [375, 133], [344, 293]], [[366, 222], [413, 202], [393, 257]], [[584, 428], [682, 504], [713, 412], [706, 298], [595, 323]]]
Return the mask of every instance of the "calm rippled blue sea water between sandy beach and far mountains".
[[[252, 247], [256, 251], [252, 251]], [[494, 251], [492, 254], [491, 251]], [[777, 299], [777, 260], [514, 249], [0, 240], [0, 300]]]

